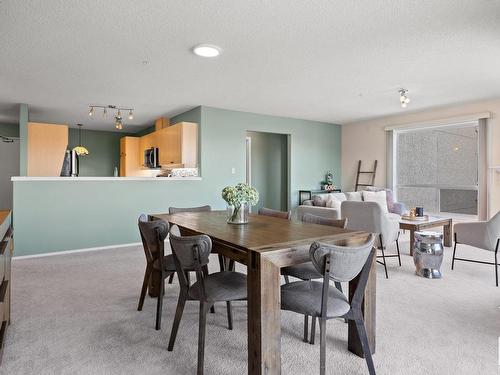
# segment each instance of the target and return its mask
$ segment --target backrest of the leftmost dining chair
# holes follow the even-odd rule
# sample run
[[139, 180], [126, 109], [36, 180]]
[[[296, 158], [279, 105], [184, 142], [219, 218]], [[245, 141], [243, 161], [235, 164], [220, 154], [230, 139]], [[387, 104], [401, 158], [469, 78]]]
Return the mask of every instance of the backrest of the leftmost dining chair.
[[139, 216], [139, 232], [141, 234], [142, 246], [148, 263], [160, 259], [162, 262], [165, 252], [164, 241], [167, 238], [169, 225], [164, 220], [149, 221], [144, 214]]

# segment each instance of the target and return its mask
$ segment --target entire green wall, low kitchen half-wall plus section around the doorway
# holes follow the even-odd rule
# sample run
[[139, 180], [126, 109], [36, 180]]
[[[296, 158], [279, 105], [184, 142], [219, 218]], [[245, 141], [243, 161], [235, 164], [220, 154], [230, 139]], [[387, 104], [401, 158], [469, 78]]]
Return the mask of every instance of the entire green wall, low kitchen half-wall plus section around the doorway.
[[142, 212], [166, 212], [174, 205], [224, 209], [221, 190], [245, 181], [247, 131], [290, 135], [292, 206], [298, 190], [317, 189], [327, 170], [335, 171], [340, 185], [339, 125], [210, 107], [174, 119], [200, 124], [202, 180], [16, 181], [15, 255], [139, 242]]

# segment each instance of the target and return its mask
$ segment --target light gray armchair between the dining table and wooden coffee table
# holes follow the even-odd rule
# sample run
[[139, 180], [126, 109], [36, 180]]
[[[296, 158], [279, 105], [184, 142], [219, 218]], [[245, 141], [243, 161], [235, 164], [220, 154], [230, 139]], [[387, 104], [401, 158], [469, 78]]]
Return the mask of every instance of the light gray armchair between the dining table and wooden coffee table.
[[[377, 256], [377, 258], [382, 258], [382, 261], [377, 260], [377, 263], [384, 266], [385, 277], [389, 278], [385, 258], [397, 257], [401, 266], [398, 242], [400, 216], [384, 213], [376, 202], [344, 201], [340, 211], [342, 218], [347, 219], [347, 229], [362, 230], [378, 235], [376, 246], [381, 250], [382, 256]], [[397, 254], [386, 255], [385, 250], [393, 242], [396, 242]]]

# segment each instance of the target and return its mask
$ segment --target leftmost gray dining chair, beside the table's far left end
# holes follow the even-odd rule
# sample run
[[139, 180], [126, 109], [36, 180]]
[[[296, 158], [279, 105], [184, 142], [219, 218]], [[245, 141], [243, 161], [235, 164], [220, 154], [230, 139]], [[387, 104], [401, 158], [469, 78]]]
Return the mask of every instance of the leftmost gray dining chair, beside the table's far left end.
[[160, 285], [158, 285], [158, 299], [156, 303], [156, 329], [161, 328], [161, 313], [165, 279], [175, 274], [175, 264], [173, 255], [165, 255], [165, 238], [167, 238], [169, 225], [163, 220], [148, 221], [144, 214], [139, 216], [139, 232], [141, 234], [144, 255], [146, 256], [146, 271], [142, 283], [141, 295], [139, 297], [138, 311], [142, 310], [144, 298], [148, 289], [148, 283], [153, 274], [153, 270], [160, 272]]

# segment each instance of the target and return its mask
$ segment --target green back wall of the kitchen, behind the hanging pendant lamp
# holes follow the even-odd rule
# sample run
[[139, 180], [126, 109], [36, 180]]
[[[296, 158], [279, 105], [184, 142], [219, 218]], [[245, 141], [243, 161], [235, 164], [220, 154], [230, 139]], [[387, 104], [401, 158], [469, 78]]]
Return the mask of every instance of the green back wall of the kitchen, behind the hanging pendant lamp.
[[[80, 176], [113, 176], [120, 170], [120, 138], [129, 134], [82, 130], [82, 145], [89, 155], [80, 157]], [[78, 146], [78, 129], [69, 129], [69, 149]]]

